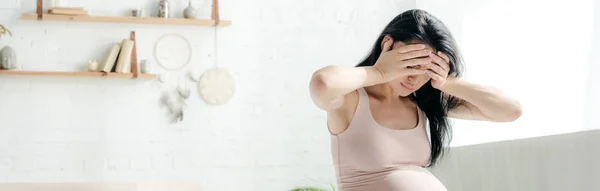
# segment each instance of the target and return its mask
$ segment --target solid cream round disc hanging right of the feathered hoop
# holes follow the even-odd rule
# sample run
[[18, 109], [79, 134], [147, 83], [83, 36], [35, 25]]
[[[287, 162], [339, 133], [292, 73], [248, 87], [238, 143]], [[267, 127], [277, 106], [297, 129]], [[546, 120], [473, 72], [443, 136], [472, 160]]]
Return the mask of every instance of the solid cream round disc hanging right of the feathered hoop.
[[235, 94], [236, 84], [233, 76], [224, 68], [212, 68], [198, 80], [198, 94], [209, 105], [227, 103]]

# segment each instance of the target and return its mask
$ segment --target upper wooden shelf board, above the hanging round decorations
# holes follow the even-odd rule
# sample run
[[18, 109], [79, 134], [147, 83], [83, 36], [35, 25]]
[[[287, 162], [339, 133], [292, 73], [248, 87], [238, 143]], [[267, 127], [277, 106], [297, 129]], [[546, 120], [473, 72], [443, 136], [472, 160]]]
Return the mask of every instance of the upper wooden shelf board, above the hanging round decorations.
[[161, 25], [191, 25], [191, 26], [229, 26], [231, 21], [202, 19], [184, 19], [184, 18], [156, 18], [156, 17], [111, 17], [111, 16], [71, 16], [42, 14], [38, 19], [35, 13], [25, 13], [21, 16], [22, 20], [42, 20], [42, 21], [76, 21], [76, 22], [106, 22], [106, 23], [134, 23], [134, 24], [161, 24]]

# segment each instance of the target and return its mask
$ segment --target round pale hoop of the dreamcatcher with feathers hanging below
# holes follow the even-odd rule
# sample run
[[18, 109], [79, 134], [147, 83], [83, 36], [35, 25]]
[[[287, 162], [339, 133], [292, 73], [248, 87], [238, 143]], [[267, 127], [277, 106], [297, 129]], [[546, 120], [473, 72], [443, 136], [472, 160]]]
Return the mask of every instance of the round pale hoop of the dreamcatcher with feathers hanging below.
[[154, 57], [162, 68], [180, 70], [192, 58], [192, 45], [181, 35], [167, 34], [156, 42]]

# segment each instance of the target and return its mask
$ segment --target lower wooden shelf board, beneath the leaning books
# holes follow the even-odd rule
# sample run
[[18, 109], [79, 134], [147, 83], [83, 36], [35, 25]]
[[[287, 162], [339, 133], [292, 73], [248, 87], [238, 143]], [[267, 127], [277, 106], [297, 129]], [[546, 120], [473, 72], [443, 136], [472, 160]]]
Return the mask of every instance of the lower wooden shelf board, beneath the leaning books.
[[[65, 76], [65, 77], [102, 77], [102, 78], [131, 78], [133, 74], [104, 73], [104, 72], [55, 72], [55, 71], [23, 71], [23, 70], [0, 70], [0, 75], [23, 75], [23, 76]], [[154, 79], [153, 74], [138, 74], [137, 79]]]

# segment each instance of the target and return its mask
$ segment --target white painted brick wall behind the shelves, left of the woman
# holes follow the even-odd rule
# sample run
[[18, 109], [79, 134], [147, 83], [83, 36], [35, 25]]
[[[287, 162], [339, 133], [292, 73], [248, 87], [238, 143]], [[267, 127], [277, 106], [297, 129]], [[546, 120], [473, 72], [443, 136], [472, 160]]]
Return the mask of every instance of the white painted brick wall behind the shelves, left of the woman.
[[[64, 0], [63, 0], [64, 1]], [[92, 14], [148, 14], [157, 0], [71, 0]], [[181, 16], [186, 0], [172, 0]], [[210, 1], [197, 0], [201, 17]], [[410, 0], [222, 0], [219, 66], [237, 94], [212, 107], [193, 89], [183, 122], [171, 125], [156, 81], [0, 76], [0, 182], [192, 180], [207, 190], [286, 190], [334, 183], [324, 113], [312, 106], [310, 74], [354, 65], [380, 29]], [[154, 62], [154, 42], [190, 40], [189, 68], [213, 67], [213, 30], [202, 27], [19, 21], [34, 0], [3, 0], [0, 22], [27, 70], [76, 70], [102, 60], [111, 43], [137, 31], [138, 58]], [[177, 73], [171, 73], [173, 81]], [[193, 86], [195, 87], [195, 86]]]

